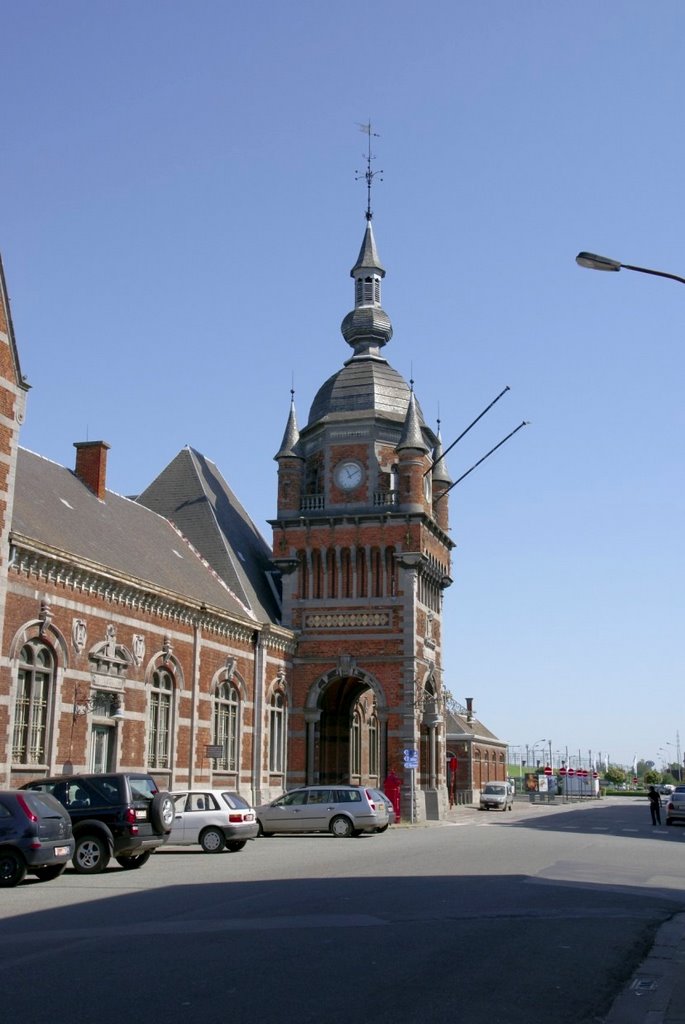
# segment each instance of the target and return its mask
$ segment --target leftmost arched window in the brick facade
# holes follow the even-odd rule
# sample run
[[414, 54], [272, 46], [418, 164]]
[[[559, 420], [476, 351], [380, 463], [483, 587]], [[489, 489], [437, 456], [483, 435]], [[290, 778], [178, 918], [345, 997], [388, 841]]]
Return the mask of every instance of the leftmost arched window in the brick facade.
[[19, 671], [14, 705], [12, 761], [45, 764], [47, 724], [54, 679], [52, 651], [39, 640], [19, 651]]

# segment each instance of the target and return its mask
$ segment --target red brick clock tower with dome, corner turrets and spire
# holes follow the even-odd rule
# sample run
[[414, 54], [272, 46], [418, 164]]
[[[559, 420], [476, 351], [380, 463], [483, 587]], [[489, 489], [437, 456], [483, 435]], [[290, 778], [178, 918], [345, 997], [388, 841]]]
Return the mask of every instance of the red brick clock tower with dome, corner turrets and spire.
[[[351, 269], [352, 349], [281, 447], [273, 560], [297, 651], [288, 683], [288, 785], [402, 779], [402, 816], [446, 807], [442, 597], [449, 474], [439, 436], [388, 362], [385, 269], [367, 210]], [[416, 771], [403, 751], [418, 752]], [[413, 777], [414, 775], [414, 777]]]

